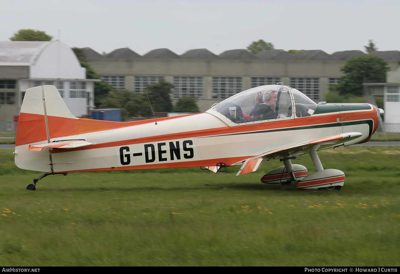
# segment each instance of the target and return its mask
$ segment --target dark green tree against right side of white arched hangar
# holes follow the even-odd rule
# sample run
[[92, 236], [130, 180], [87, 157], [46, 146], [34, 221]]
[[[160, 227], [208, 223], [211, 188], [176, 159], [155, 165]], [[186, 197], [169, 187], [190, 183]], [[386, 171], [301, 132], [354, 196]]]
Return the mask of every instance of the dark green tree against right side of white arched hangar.
[[[86, 79], [100, 79], [100, 76], [89, 65], [83, 48], [72, 48], [72, 51], [78, 58], [80, 66], [82, 66], [82, 68], [86, 68]], [[101, 80], [100, 82], [94, 82], [94, 105], [99, 107], [102, 99], [106, 98], [107, 94], [113, 90], [114, 88], [104, 80]]]

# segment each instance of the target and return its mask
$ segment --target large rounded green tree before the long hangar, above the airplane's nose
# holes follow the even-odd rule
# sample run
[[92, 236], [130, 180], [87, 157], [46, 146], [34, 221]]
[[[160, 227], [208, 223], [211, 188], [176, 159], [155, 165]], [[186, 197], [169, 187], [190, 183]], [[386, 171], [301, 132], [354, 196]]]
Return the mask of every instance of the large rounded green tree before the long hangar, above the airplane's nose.
[[383, 83], [389, 70], [388, 63], [378, 56], [365, 54], [351, 58], [340, 68], [345, 75], [340, 77], [337, 90], [342, 95], [362, 96], [363, 83]]

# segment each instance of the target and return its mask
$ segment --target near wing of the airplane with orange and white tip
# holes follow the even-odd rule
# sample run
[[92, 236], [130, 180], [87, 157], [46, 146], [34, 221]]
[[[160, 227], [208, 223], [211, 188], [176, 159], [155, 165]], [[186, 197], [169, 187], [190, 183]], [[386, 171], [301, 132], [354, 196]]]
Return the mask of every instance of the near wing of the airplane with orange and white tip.
[[360, 132], [334, 134], [326, 137], [316, 138], [306, 142], [297, 143], [292, 146], [287, 146], [285, 148], [271, 150], [246, 159], [236, 176], [256, 171], [267, 160], [269, 161], [278, 158], [290, 158], [306, 154], [312, 149], [322, 150], [324, 148], [330, 148], [332, 146], [337, 146], [344, 142], [354, 140], [355, 138], [358, 138], [360, 136], [362, 136], [362, 133]]

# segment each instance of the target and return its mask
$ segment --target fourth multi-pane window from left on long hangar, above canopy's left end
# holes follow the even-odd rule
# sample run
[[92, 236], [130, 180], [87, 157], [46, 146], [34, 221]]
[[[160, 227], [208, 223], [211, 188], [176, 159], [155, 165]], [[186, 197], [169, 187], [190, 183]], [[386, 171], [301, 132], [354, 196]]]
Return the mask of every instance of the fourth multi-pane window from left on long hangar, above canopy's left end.
[[242, 78], [240, 77], [213, 77], [212, 98], [226, 99], [242, 91]]

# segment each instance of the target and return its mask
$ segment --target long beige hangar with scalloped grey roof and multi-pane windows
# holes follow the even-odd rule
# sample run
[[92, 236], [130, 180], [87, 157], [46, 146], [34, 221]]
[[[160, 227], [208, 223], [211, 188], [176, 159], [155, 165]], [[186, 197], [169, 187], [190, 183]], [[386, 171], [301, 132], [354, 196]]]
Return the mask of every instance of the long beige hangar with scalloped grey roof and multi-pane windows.
[[[340, 68], [346, 60], [366, 54], [360, 50], [333, 54], [322, 50], [296, 54], [266, 50], [254, 55], [238, 49], [216, 55], [207, 49], [194, 49], [178, 55], [167, 48], [151, 50], [143, 56], [130, 48], [120, 48], [106, 56], [91, 48], [85, 48], [85, 52], [92, 68], [115, 88], [143, 92], [147, 84], [164, 78], [175, 86], [174, 100], [196, 96], [200, 111], [242, 90], [278, 82], [297, 88], [312, 100], [323, 100], [329, 85], [343, 75]], [[398, 53], [370, 54], [386, 60], [394, 71], [399, 67]]]

